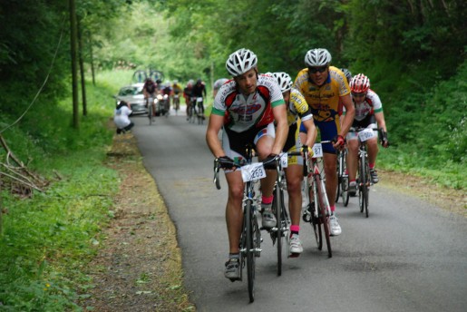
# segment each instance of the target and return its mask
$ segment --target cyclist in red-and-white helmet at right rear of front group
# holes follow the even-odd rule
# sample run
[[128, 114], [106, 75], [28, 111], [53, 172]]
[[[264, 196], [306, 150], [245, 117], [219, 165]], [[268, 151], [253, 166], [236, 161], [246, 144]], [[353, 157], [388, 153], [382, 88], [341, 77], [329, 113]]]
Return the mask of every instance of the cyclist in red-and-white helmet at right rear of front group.
[[[376, 128], [378, 123], [381, 133], [381, 144], [383, 147], [389, 146], [387, 141], [386, 122], [384, 121], [383, 104], [373, 90], [370, 89], [370, 80], [363, 73], [357, 74], [350, 82], [352, 101], [355, 105], [355, 120], [352, 123], [351, 131], [347, 133], [347, 169], [349, 179], [349, 195], [356, 194], [356, 170], [358, 167], [358, 135], [355, 128]], [[346, 117], [345, 117], [346, 119]], [[373, 183], [379, 181], [375, 171], [376, 156], [378, 154], [377, 132], [375, 137], [366, 141], [368, 146], [368, 162], [370, 165], [370, 175]]]

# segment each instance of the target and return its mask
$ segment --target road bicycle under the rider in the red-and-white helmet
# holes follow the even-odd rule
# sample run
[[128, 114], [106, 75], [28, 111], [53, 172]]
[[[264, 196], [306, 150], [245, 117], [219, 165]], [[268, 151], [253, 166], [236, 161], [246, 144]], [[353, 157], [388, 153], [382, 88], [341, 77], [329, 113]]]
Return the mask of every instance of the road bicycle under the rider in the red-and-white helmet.
[[[352, 130], [351, 130], [352, 131]], [[355, 132], [358, 133], [358, 205], [360, 212], [364, 212], [365, 217], [368, 218], [369, 211], [369, 197], [370, 186], [373, 184], [370, 177], [370, 164], [368, 161], [368, 153], [366, 151], [366, 141], [375, 137], [376, 129], [372, 128], [357, 128]]]

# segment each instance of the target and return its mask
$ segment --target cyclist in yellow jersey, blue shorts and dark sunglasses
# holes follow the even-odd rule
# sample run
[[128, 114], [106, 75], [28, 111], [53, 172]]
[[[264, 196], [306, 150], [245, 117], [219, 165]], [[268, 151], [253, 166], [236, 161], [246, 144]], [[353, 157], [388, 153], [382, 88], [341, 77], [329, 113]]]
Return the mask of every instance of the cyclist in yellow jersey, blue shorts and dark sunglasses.
[[[324, 164], [326, 174], [326, 193], [331, 209], [329, 218], [331, 235], [339, 235], [342, 229], [336, 217], [337, 174], [336, 149], [342, 149], [345, 135], [354, 119], [355, 109], [350, 98], [350, 88], [344, 73], [330, 66], [331, 54], [326, 49], [312, 49], [305, 55], [306, 68], [297, 74], [294, 86], [305, 96], [311, 108], [316, 127], [322, 141], [334, 141], [324, 144]], [[341, 127], [341, 105], [347, 111], [347, 118]], [[301, 127], [300, 131], [305, 132]]]

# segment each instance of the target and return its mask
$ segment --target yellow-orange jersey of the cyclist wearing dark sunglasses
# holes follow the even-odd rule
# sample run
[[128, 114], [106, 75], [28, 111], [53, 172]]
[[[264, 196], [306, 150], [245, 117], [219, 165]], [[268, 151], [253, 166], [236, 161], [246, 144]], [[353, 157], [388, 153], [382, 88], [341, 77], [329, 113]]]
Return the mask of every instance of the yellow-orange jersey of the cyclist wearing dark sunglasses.
[[[305, 68], [298, 73], [294, 87], [305, 96], [316, 122], [334, 122], [339, 126], [339, 97], [350, 93], [344, 73], [329, 66], [329, 74], [323, 85], [312, 83]], [[339, 128], [340, 129], [340, 128]]]

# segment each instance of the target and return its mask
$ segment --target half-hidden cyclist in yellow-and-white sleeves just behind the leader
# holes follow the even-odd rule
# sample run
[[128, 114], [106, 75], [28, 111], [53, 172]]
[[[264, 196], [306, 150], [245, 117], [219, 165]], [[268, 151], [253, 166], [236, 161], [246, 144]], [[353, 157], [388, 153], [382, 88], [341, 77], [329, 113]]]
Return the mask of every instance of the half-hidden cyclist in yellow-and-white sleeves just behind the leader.
[[[282, 96], [287, 106], [288, 135], [283, 151], [297, 151], [302, 142], [299, 138], [299, 124], [306, 128], [307, 146], [313, 146], [316, 140], [316, 127], [305, 98], [297, 89], [292, 88], [292, 79], [288, 73], [273, 73], [281, 89]], [[297, 257], [303, 252], [302, 242], [299, 237], [300, 212], [302, 209], [302, 181], [303, 181], [303, 157], [291, 156], [288, 158], [286, 171], [288, 210], [290, 211], [290, 253]]]

